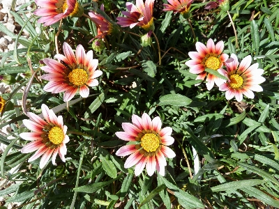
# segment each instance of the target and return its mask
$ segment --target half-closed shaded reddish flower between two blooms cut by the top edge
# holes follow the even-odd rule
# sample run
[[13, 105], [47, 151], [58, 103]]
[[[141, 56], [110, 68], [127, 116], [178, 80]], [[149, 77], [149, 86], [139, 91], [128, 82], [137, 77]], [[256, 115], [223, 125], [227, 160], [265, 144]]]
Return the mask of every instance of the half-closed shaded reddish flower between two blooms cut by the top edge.
[[[100, 9], [104, 11], [104, 4], [100, 6]], [[103, 38], [104, 36], [110, 35], [114, 30], [114, 26], [105, 17], [95, 12], [88, 13], [93, 22], [98, 27], [98, 35], [95, 38]]]

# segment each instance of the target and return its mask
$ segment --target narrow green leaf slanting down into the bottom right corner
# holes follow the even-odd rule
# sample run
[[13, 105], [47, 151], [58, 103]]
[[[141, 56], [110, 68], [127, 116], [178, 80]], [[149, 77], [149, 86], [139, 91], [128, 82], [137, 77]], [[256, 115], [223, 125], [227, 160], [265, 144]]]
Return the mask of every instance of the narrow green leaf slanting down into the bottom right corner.
[[243, 192], [246, 192], [250, 196], [254, 196], [255, 198], [263, 201], [264, 203], [271, 205], [273, 207], [279, 208], [279, 201], [273, 199], [271, 196], [265, 194], [259, 189], [256, 189], [254, 187], [246, 187], [246, 188], [241, 188]]

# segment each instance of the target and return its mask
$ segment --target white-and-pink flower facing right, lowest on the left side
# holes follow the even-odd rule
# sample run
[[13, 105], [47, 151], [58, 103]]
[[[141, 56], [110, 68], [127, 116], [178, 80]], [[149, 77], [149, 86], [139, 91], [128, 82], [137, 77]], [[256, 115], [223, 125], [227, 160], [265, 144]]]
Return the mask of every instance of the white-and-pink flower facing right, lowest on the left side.
[[31, 141], [22, 148], [22, 153], [34, 153], [28, 160], [31, 162], [36, 160], [41, 155], [40, 169], [43, 169], [50, 157], [52, 157], [52, 164], [55, 164], [57, 154], [61, 160], [65, 162], [67, 153], [66, 144], [70, 141], [67, 132], [67, 126], [63, 125], [62, 116], [56, 116], [52, 109], [47, 105], [42, 104], [42, 113], [45, 120], [33, 114], [27, 113], [30, 120], [24, 119], [23, 124], [32, 132], [24, 132], [20, 134], [22, 139]]

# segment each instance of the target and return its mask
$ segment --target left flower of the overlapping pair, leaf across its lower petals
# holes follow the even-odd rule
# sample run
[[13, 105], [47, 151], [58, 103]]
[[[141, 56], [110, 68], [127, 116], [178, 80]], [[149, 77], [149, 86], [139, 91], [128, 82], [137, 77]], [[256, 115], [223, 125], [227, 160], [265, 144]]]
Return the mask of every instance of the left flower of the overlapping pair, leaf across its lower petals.
[[186, 61], [186, 65], [190, 67], [190, 72], [198, 74], [197, 79], [204, 79], [206, 77], [206, 87], [211, 90], [214, 86], [214, 82], [217, 86], [225, 83], [225, 79], [220, 79], [215, 75], [209, 74], [204, 70], [210, 68], [217, 70], [220, 73], [220, 68], [229, 58], [229, 55], [222, 53], [224, 49], [224, 42], [219, 41], [216, 45], [210, 38], [206, 46], [202, 42], [196, 42], [197, 52], [189, 52], [191, 60]]

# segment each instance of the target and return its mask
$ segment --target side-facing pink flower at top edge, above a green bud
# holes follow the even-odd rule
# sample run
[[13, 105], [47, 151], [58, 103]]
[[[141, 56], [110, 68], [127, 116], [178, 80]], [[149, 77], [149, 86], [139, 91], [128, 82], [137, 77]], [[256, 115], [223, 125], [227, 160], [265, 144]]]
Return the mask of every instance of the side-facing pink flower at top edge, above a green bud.
[[146, 0], [145, 3], [142, 0], [137, 0], [136, 5], [127, 2], [127, 11], [122, 11], [123, 15], [127, 17], [116, 17], [117, 24], [121, 27], [128, 27], [133, 29], [134, 26], [140, 26], [145, 31], [154, 31], [155, 26], [153, 24], [153, 4], [155, 0]]

